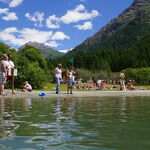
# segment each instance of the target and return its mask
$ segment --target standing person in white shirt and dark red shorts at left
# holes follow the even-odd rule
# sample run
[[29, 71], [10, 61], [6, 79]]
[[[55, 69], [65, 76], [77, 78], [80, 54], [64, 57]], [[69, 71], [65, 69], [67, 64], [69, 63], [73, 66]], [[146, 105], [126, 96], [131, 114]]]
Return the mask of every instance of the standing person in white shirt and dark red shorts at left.
[[8, 56], [8, 60], [7, 60], [7, 80], [10, 82], [10, 88], [12, 89], [13, 88], [13, 71], [14, 71], [14, 63], [12, 61], [12, 56], [11, 54], [7, 54]]

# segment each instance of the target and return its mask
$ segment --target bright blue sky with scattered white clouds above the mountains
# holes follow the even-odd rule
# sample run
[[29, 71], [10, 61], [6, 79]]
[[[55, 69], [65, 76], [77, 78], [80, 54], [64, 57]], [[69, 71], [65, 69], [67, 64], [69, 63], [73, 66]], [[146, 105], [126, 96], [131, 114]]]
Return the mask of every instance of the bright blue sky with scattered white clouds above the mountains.
[[0, 42], [29, 41], [73, 48], [128, 8], [133, 0], [0, 0]]

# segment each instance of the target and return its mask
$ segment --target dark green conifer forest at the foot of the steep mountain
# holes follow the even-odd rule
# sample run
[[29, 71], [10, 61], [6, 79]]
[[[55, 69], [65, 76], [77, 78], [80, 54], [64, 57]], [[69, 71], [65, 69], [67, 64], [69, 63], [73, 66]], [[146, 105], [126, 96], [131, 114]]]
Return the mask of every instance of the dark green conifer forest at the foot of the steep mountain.
[[139, 39], [131, 48], [101, 49], [95, 52], [78, 51], [71, 56], [66, 55], [54, 60], [48, 60], [50, 66], [62, 63], [64, 67], [71, 66], [70, 58], [74, 58], [75, 68], [87, 70], [104, 70], [119, 72], [126, 68], [150, 67], [150, 34]]

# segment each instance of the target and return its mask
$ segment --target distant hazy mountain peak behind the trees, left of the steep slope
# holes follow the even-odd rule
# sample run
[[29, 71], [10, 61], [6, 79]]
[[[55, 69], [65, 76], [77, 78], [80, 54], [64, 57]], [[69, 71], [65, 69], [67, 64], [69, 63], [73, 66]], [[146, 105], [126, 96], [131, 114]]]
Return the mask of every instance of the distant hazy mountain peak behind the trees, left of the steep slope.
[[28, 42], [28, 43], [24, 44], [23, 46], [21, 46], [19, 48], [19, 50], [23, 49], [27, 45], [33, 46], [35, 48], [38, 48], [40, 50], [40, 52], [41, 52], [41, 55], [44, 58], [56, 58], [56, 57], [60, 57], [60, 56], [64, 55], [64, 53], [59, 52], [57, 50], [54, 50], [51, 47], [46, 46], [46, 45], [41, 44], [41, 43], [38, 43], [38, 42]]

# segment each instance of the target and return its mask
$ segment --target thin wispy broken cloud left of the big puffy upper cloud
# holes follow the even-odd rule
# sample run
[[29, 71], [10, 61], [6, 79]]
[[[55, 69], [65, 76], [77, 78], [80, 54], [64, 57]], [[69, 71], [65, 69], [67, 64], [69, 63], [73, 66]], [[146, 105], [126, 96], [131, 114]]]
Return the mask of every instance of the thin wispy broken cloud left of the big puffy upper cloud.
[[43, 20], [44, 20], [44, 13], [43, 12], [35, 12], [33, 15], [30, 15], [30, 13], [26, 13], [25, 17], [28, 18], [30, 21], [36, 22], [34, 25], [38, 27], [43, 26]]

